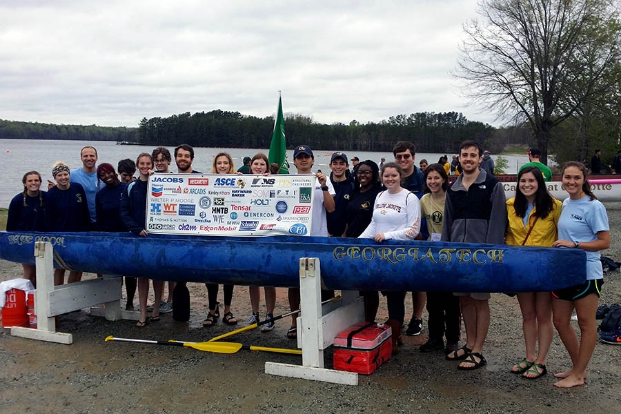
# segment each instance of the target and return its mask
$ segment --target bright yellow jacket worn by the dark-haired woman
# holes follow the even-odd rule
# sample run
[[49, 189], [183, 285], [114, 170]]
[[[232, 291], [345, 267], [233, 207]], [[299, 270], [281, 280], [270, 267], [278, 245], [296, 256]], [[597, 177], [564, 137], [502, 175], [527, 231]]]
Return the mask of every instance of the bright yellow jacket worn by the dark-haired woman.
[[[535, 208], [531, 211], [528, 226], [524, 228], [524, 221], [522, 221], [522, 217], [515, 215], [515, 206], [513, 206], [514, 201], [515, 197], [511, 197], [511, 199], [506, 201], [506, 213], [509, 218], [509, 226], [506, 228], [504, 242], [514, 246], [521, 246], [522, 242], [524, 242], [524, 239], [526, 238], [526, 233], [529, 233], [529, 229], [535, 222], [535, 211], [537, 210], [537, 206], [535, 206]], [[526, 240], [526, 244], [524, 244], [524, 246], [552, 246], [553, 242], [558, 239], [558, 218], [560, 217], [561, 207], [562, 202], [558, 201], [558, 199], [554, 199], [554, 209], [545, 219], [540, 218], [537, 220], [537, 223], [535, 223], [535, 227], [533, 228], [533, 231], [531, 231], [531, 235], [529, 235], [529, 239]]]

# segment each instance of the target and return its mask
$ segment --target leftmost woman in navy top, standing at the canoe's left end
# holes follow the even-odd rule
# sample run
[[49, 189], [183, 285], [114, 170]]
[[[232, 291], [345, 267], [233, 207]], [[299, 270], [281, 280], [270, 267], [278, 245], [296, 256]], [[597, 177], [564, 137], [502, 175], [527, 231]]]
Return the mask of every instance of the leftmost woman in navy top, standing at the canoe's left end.
[[[45, 231], [46, 197], [41, 191], [41, 174], [29, 171], [21, 179], [23, 191], [13, 197], [9, 204], [6, 231]], [[22, 264], [23, 278], [37, 287], [37, 270], [34, 264]]]

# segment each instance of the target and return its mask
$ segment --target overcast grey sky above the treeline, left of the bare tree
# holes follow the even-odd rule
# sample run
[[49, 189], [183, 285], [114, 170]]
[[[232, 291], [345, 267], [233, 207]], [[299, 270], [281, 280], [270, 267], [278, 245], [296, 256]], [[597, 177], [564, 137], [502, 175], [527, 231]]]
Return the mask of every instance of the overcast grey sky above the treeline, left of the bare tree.
[[0, 119], [138, 126], [213, 109], [364, 124], [468, 106], [476, 0], [0, 0]]

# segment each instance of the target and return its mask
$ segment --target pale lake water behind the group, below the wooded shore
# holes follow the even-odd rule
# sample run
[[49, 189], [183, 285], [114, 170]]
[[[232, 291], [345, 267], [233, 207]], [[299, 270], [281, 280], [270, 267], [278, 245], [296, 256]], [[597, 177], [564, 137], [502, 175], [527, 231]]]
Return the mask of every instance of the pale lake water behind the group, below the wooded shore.
[[[113, 141], [55, 141], [49, 139], [30, 140], [30, 139], [0, 139], [0, 159], [4, 172], [0, 179], [0, 207], [7, 208], [11, 199], [21, 193], [23, 186], [21, 178], [25, 172], [37, 170], [41, 174], [43, 181], [52, 179], [52, 166], [56, 161], [63, 161], [71, 169], [82, 166], [80, 161], [80, 150], [83, 146], [94, 146], [97, 148], [99, 156], [98, 164], [108, 162], [112, 166], [117, 167], [119, 160], [131, 158], [135, 160], [141, 152], [151, 152], [154, 146], [133, 146], [133, 145], [117, 145]], [[168, 146], [172, 154], [174, 146]], [[358, 157], [361, 161], [364, 159], [372, 159], [379, 164], [382, 157], [386, 161], [393, 161], [391, 152], [365, 152], [365, 151], [348, 151], [344, 148], [334, 148], [334, 150], [342, 150], [348, 157]], [[257, 152], [264, 152], [266, 155], [269, 150], [264, 149], [248, 149], [248, 148], [195, 148], [195, 159], [193, 168], [201, 172], [208, 173], [211, 171], [213, 157], [218, 152], [226, 151], [235, 163], [235, 168], [242, 166], [242, 159], [246, 156], [252, 157]], [[332, 151], [315, 150], [315, 167], [313, 170], [321, 169], [323, 172], [329, 172], [328, 164]], [[291, 172], [295, 173], [293, 166], [293, 150], [287, 151], [289, 163], [291, 164]], [[417, 163], [421, 159], [426, 159], [429, 164], [437, 162], [444, 154], [417, 152]], [[447, 153], [449, 162], [451, 161], [451, 152]], [[492, 156], [495, 159], [495, 156]], [[506, 173], [515, 174], [517, 169], [529, 162], [527, 155], [507, 155], [503, 156], [509, 161], [509, 168]], [[176, 170], [175, 161], [172, 161], [173, 171]]]

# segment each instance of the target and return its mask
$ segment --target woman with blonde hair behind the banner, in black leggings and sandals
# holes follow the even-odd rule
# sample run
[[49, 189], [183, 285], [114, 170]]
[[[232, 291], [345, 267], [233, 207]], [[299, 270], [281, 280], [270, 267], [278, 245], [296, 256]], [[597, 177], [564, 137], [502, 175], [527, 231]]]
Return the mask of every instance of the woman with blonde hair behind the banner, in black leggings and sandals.
[[[211, 166], [212, 174], [235, 174], [235, 166], [233, 165], [233, 158], [226, 152], [219, 152], [213, 158], [213, 165]], [[241, 174], [241, 172], [239, 173]], [[218, 302], [218, 284], [206, 283], [207, 297], [209, 301], [209, 313], [203, 321], [203, 326], [208, 328], [214, 326], [220, 317], [219, 302]], [[222, 286], [224, 290], [224, 317], [222, 322], [227, 325], [237, 325], [237, 318], [233, 316], [230, 311], [230, 304], [233, 302], [233, 285], [225, 284]]]

